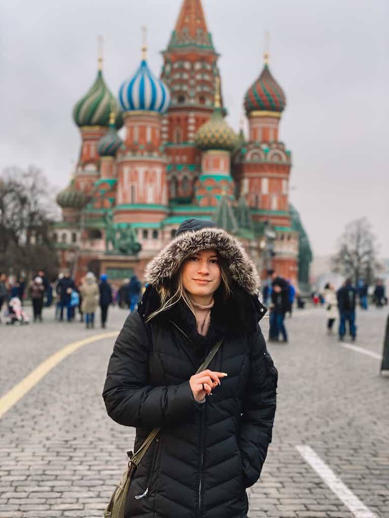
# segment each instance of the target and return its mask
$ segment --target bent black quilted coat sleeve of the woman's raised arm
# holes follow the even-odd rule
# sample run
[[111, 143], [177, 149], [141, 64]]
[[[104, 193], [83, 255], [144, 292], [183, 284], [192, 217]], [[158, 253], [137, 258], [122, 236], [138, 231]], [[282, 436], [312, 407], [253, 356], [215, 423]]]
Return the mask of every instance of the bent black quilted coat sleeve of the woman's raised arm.
[[133, 312], [116, 339], [103, 390], [108, 415], [124, 426], [171, 425], [199, 408], [189, 381], [156, 387], [148, 384], [149, 351], [145, 326]]

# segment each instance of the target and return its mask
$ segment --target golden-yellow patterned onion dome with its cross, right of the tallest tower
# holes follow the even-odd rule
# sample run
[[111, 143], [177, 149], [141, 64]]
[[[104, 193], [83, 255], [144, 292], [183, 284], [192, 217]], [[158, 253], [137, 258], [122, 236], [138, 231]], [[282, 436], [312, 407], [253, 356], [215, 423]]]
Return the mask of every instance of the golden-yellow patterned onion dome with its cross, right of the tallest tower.
[[196, 134], [196, 146], [203, 150], [223, 149], [233, 151], [237, 145], [237, 136], [225, 122], [223, 108], [220, 106], [220, 82], [216, 78], [215, 109], [209, 121], [203, 124]]

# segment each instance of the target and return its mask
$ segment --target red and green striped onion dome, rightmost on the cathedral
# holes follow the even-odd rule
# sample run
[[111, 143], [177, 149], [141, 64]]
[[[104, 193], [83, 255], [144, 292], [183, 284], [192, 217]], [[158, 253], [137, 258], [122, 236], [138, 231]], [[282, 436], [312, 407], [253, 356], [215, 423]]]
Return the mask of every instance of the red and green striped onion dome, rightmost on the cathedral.
[[281, 113], [286, 106], [285, 94], [270, 73], [268, 57], [258, 79], [247, 90], [244, 97], [246, 113], [252, 111], [275, 111]]

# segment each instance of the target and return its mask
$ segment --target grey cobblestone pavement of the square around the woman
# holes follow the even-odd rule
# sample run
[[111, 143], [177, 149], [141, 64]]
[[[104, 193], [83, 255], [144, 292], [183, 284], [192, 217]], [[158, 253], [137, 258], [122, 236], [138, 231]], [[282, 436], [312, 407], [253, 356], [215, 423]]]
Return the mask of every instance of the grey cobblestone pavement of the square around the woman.
[[[386, 314], [358, 314], [358, 346], [382, 353]], [[106, 330], [119, 330], [125, 316], [110, 310]], [[44, 319], [0, 326], [0, 395], [65, 344], [101, 332], [54, 322], [51, 309]], [[302, 444], [377, 517], [389, 516], [389, 379], [379, 376], [380, 362], [327, 336], [321, 309], [286, 323], [289, 343], [268, 347], [278, 408], [261, 479], [249, 490], [250, 518], [354, 516], [296, 450]], [[113, 342], [75, 351], [1, 419], [0, 518], [101, 518], [134, 437], [108, 418], [101, 397]]]

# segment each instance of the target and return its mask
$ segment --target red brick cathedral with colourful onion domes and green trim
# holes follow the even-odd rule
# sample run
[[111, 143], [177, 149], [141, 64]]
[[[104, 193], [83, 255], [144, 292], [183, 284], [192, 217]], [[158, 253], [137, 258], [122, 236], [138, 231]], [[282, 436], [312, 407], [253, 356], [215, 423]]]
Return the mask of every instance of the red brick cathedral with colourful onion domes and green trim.
[[113, 283], [142, 279], [150, 259], [193, 217], [235, 235], [262, 278], [272, 266], [294, 284], [308, 282], [309, 241], [289, 206], [291, 154], [279, 138], [286, 100], [268, 56], [244, 95], [245, 135], [225, 121], [201, 0], [183, 0], [160, 77], [146, 50], [117, 97], [100, 59], [74, 107], [81, 147], [70, 185], [57, 196], [63, 221], [53, 235], [61, 268], [77, 279], [88, 270]]

